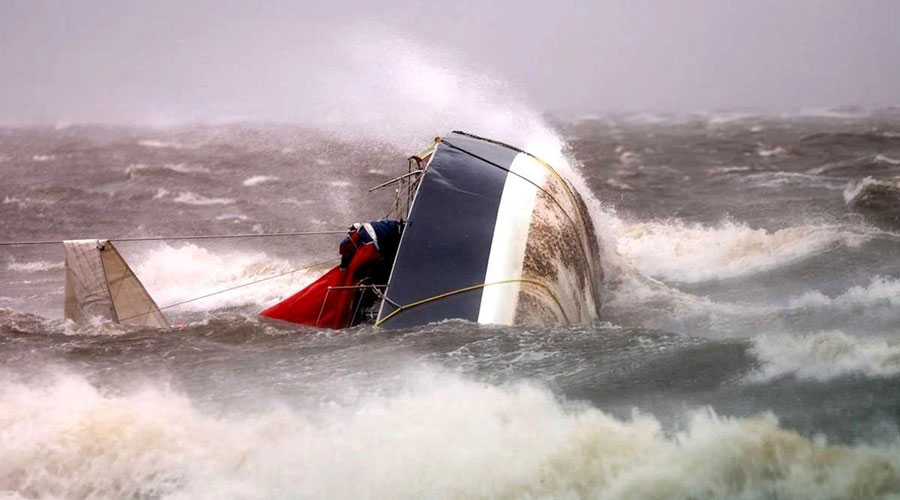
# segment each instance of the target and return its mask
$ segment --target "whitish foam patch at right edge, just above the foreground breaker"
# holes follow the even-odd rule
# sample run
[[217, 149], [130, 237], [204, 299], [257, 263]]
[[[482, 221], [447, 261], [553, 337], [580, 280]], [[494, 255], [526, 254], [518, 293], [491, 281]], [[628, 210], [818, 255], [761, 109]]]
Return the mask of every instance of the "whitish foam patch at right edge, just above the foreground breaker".
[[900, 374], [897, 338], [860, 338], [841, 331], [771, 334], [754, 338], [751, 350], [763, 365], [750, 377], [755, 381], [787, 375], [828, 380], [849, 374], [868, 377]]

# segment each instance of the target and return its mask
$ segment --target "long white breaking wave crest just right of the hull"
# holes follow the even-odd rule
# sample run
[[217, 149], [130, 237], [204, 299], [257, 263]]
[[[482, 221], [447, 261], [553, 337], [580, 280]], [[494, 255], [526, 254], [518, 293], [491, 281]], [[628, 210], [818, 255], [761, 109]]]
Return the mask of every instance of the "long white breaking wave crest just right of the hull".
[[858, 246], [864, 229], [809, 225], [768, 231], [744, 223], [715, 226], [678, 220], [615, 224], [618, 251], [660, 279], [694, 283], [775, 269], [833, 245]]

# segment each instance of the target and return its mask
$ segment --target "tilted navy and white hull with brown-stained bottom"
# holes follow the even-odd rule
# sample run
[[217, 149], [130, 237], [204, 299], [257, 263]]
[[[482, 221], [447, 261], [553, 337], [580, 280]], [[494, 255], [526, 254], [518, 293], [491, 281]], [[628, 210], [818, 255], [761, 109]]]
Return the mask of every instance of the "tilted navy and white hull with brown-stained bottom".
[[454, 132], [419, 181], [376, 324], [588, 324], [598, 256], [584, 203], [549, 165]]

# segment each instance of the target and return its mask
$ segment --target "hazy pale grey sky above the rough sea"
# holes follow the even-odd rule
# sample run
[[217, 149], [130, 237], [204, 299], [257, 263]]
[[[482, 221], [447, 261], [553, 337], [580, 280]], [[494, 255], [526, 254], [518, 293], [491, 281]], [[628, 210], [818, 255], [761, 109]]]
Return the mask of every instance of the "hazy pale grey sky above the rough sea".
[[892, 105], [898, 20], [890, 0], [0, 0], [0, 122]]

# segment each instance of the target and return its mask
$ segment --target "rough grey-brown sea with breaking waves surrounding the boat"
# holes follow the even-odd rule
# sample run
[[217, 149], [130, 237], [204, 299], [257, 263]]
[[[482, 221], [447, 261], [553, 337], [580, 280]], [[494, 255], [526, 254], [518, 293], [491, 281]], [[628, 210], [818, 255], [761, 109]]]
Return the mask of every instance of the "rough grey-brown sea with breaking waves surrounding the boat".
[[[900, 498], [900, 110], [548, 120], [603, 248], [594, 326], [257, 319], [317, 269], [168, 330], [79, 326], [61, 245], [0, 247], [0, 496]], [[0, 240], [342, 229], [388, 211], [367, 188], [411, 153], [293, 125], [0, 129]], [[118, 247], [165, 306], [339, 238]]]

